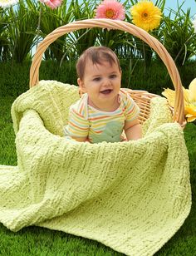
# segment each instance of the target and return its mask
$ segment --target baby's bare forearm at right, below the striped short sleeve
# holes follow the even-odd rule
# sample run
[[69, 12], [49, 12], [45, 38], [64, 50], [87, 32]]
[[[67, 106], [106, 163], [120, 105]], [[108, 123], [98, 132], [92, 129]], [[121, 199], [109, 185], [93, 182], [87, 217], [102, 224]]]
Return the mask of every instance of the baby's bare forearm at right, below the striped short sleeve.
[[138, 140], [142, 137], [141, 125], [138, 119], [125, 121], [124, 130], [127, 140]]

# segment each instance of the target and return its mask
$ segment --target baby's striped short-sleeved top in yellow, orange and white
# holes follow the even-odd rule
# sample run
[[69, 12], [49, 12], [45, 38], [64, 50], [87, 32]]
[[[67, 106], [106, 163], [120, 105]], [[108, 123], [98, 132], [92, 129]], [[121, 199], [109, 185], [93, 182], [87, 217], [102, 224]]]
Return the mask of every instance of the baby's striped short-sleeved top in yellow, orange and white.
[[120, 106], [115, 111], [99, 111], [88, 105], [88, 95], [84, 94], [70, 107], [68, 125], [64, 127], [65, 135], [85, 137], [91, 143], [121, 141], [125, 121], [134, 121], [140, 109], [122, 89], [119, 102]]

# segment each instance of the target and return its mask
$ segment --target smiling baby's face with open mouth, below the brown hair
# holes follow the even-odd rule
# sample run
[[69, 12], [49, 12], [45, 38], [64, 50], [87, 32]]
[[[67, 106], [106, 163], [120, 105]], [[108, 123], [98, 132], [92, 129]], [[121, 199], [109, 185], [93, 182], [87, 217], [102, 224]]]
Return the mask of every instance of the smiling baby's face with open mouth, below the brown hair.
[[102, 62], [93, 64], [90, 60], [86, 62], [84, 78], [78, 79], [81, 89], [88, 93], [89, 98], [96, 104], [109, 104], [118, 96], [121, 84], [121, 71], [117, 64]]

